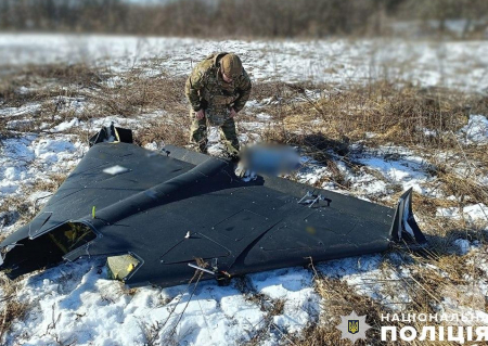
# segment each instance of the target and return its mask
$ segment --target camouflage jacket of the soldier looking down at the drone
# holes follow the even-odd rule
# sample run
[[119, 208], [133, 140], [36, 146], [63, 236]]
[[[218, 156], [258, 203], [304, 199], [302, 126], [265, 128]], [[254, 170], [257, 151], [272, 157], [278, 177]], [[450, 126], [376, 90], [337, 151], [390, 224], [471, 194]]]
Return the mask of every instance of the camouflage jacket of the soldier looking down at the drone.
[[187, 79], [184, 92], [193, 111], [206, 110], [206, 113], [221, 114], [233, 107], [241, 111], [251, 94], [251, 79], [245, 69], [232, 82], [226, 82], [219, 74], [219, 61], [227, 53], [208, 55], [200, 62]]

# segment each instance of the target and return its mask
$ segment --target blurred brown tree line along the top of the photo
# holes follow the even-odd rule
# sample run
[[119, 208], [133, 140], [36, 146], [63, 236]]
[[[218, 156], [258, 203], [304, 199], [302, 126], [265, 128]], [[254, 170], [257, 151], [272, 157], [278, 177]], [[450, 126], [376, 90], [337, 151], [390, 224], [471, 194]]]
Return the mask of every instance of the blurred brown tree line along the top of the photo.
[[[1, 0], [1, 30], [203, 37], [385, 35], [391, 21], [464, 20], [486, 29], [487, 0]], [[431, 22], [429, 22], [431, 21]], [[476, 26], [480, 26], [479, 28]]]

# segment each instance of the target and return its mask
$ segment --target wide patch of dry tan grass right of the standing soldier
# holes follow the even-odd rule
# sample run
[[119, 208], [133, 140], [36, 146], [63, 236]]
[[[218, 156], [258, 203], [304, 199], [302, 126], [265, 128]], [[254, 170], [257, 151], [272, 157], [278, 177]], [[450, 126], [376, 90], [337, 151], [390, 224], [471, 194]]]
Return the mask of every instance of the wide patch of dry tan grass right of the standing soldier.
[[[470, 113], [488, 111], [486, 98], [451, 90], [398, 87], [386, 81], [339, 91], [329, 89], [319, 100], [304, 93], [305, 102], [282, 103], [279, 114], [282, 127], [267, 133], [268, 139], [284, 138], [300, 143], [304, 136], [299, 133], [313, 133], [346, 144], [367, 141], [370, 145], [395, 143], [447, 149], [457, 143], [446, 133], [464, 125]], [[376, 136], [368, 138], [368, 133]]]

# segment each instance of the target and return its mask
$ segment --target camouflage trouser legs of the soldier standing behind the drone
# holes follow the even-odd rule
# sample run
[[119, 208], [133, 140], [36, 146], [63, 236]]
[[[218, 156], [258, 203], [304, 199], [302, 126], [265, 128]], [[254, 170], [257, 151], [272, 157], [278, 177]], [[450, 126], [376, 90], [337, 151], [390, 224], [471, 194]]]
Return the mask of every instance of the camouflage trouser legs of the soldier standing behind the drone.
[[[190, 142], [196, 146], [196, 149], [202, 152], [207, 152], [207, 116], [203, 119], [196, 119], [195, 113], [191, 113], [192, 126], [190, 128]], [[226, 150], [229, 155], [237, 155], [239, 154], [239, 140], [237, 140], [237, 131], [235, 129], [235, 121], [233, 118], [228, 118], [223, 121], [222, 125], [219, 126], [220, 138], [226, 144]]]

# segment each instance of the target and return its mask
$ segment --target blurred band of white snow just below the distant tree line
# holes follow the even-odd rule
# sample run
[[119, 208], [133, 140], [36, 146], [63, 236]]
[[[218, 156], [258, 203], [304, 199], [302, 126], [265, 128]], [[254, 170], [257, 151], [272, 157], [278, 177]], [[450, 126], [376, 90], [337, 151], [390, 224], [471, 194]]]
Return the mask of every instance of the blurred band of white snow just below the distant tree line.
[[[0, 34], [0, 65], [87, 62], [115, 72], [164, 68], [187, 75], [195, 62], [217, 51], [242, 56], [255, 80], [364, 82], [408, 80], [486, 91], [488, 42], [402, 40], [203, 40], [90, 35]], [[155, 68], [156, 67], [156, 68]]]

